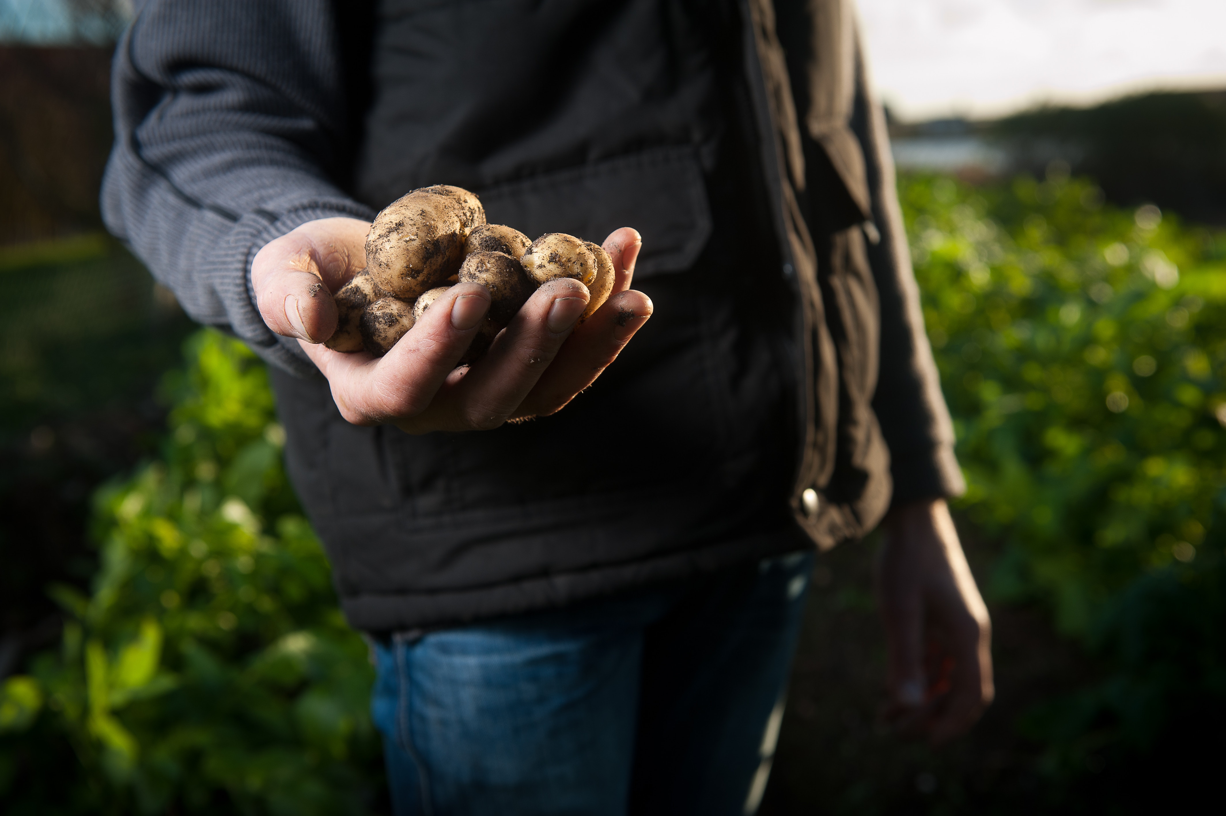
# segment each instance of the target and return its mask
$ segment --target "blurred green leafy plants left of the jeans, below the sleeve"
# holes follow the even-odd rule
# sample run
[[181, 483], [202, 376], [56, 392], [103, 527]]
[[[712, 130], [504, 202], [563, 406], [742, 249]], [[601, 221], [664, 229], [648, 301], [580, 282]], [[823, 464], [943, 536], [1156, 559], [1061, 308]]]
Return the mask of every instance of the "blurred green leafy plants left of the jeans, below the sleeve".
[[367, 647], [286, 482], [266, 371], [212, 331], [188, 360], [161, 460], [96, 496], [92, 591], [51, 588], [61, 649], [0, 692], [6, 814], [358, 812], [381, 785]]

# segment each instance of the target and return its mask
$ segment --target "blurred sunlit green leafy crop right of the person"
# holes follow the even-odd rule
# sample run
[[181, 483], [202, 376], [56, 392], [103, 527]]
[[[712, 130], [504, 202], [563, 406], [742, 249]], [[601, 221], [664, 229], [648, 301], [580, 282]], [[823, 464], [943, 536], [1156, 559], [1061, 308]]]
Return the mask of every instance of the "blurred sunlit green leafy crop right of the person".
[[1092, 183], [900, 188], [988, 591], [1047, 605], [1102, 676], [1024, 719], [1101, 773], [1226, 710], [1226, 237]]

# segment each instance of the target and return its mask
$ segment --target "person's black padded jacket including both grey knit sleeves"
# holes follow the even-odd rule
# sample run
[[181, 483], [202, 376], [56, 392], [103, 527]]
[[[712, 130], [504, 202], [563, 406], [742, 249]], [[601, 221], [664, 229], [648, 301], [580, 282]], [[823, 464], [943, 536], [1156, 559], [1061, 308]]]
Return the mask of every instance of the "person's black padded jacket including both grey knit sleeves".
[[[851, 0], [148, 0], [110, 228], [271, 364], [351, 622], [446, 626], [874, 526], [961, 490]], [[536, 236], [644, 236], [656, 314], [560, 414], [347, 425], [250, 263], [427, 184]]]

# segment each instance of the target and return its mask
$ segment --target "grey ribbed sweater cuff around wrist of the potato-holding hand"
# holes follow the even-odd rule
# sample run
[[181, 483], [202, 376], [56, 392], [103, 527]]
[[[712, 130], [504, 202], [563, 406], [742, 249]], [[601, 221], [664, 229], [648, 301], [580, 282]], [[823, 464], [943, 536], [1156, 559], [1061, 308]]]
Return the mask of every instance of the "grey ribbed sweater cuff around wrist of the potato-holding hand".
[[[251, 244], [246, 254], [246, 270], [243, 275], [245, 302], [249, 304], [250, 312], [242, 315], [242, 318], [244, 318], [242, 320], [244, 324], [242, 328], [239, 321], [235, 320], [239, 315], [230, 315], [235, 334], [238, 334], [238, 336], [242, 337], [251, 347], [251, 350], [255, 351], [255, 353], [264, 358], [265, 362], [277, 366], [278, 368], [282, 368], [297, 377], [319, 377], [320, 373], [319, 369], [315, 368], [315, 363], [313, 363], [310, 357], [308, 357], [302, 350], [298, 340], [278, 335], [268, 329], [268, 326], [264, 323], [264, 318], [260, 315], [260, 309], [256, 306], [255, 290], [251, 286], [251, 264], [255, 261], [255, 255], [270, 241], [280, 238], [308, 221], [336, 217], [373, 221], [375, 212], [374, 210], [357, 202], [311, 202], [300, 207], [287, 210], [281, 216], [276, 217], [276, 220], [270, 221], [266, 226], [259, 229], [253, 236]], [[246, 312], [246, 309], [243, 309], [243, 312]]]

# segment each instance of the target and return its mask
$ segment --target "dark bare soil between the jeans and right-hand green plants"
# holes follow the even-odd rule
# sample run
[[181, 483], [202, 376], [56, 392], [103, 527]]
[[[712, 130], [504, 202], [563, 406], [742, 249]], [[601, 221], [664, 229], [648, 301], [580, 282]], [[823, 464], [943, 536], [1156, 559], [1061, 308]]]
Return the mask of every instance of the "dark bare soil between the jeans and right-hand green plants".
[[[993, 557], [962, 525], [981, 585]], [[814, 574], [763, 816], [783, 814], [1021, 814], [1053, 791], [1019, 718], [1068, 692], [1091, 666], [1038, 610], [993, 605], [997, 698], [976, 729], [940, 750], [894, 734], [880, 717], [885, 638], [872, 595], [875, 540], [823, 556]]]

